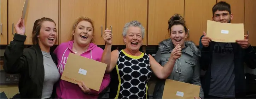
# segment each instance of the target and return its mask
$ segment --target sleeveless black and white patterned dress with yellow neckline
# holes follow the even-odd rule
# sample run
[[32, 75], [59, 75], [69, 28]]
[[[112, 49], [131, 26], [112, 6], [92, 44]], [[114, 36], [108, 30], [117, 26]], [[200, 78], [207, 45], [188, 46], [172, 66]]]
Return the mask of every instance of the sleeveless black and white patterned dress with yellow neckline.
[[131, 56], [120, 50], [116, 67], [111, 72], [110, 98], [148, 98], [147, 82], [151, 72], [148, 54]]

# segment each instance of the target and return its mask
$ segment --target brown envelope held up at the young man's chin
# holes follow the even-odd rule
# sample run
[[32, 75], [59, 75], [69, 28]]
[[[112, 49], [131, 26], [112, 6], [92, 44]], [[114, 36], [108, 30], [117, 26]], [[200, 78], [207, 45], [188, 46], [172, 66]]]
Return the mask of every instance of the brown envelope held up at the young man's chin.
[[206, 36], [215, 42], [244, 40], [244, 24], [221, 23], [207, 20]]

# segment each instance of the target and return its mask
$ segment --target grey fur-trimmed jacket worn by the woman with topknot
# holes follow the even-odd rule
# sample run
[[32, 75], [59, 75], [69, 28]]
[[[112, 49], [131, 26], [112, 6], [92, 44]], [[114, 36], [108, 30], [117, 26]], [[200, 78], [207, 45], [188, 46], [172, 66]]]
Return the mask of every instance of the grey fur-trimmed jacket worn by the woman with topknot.
[[[174, 44], [171, 39], [163, 40], [159, 43], [159, 49], [154, 58], [158, 63], [164, 66], [168, 62], [173, 48]], [[192, 41], [185, 41], [185, 48], [182, 49], [181, 57], [176, 60], [173, 67], [173, 72], [168, 79], [201, 86], [199, 64], [200, 57], [201, 52], [196, 45], [194, 45]], [[157, 81], [155, 90], [153, 92], [153, 98], [162, 99], [164, 83], [165, 80]], [[204, 98], [202, 86], [200, 88], [199, 97]]]

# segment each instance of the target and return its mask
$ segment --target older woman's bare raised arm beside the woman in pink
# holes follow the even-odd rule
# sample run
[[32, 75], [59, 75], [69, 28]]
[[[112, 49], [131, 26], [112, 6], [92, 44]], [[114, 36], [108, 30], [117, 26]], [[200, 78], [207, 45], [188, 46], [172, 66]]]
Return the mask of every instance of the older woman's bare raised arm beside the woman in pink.
[[111, 52], [111, 47], [112, 47], [111, 30], [106, 29], [104, 31], [103, 39], [106, 45], [101, 57], [101, 62], [107, 64], [106, 73], [109, 73], [115, 68], [119, 54], [118, 54], [118, 50], [114, 50]]

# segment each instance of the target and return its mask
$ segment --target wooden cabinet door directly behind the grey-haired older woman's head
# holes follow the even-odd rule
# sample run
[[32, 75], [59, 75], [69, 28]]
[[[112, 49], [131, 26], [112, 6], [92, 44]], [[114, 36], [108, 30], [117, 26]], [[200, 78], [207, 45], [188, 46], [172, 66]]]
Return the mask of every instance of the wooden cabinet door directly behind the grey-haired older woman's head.
[[137, 20], [145, 28], [142, 44], [147, 41], [147, 0], [107, 0], [106, 28], [113, 34], [112, 45], [124, 45], [124, 24]]

